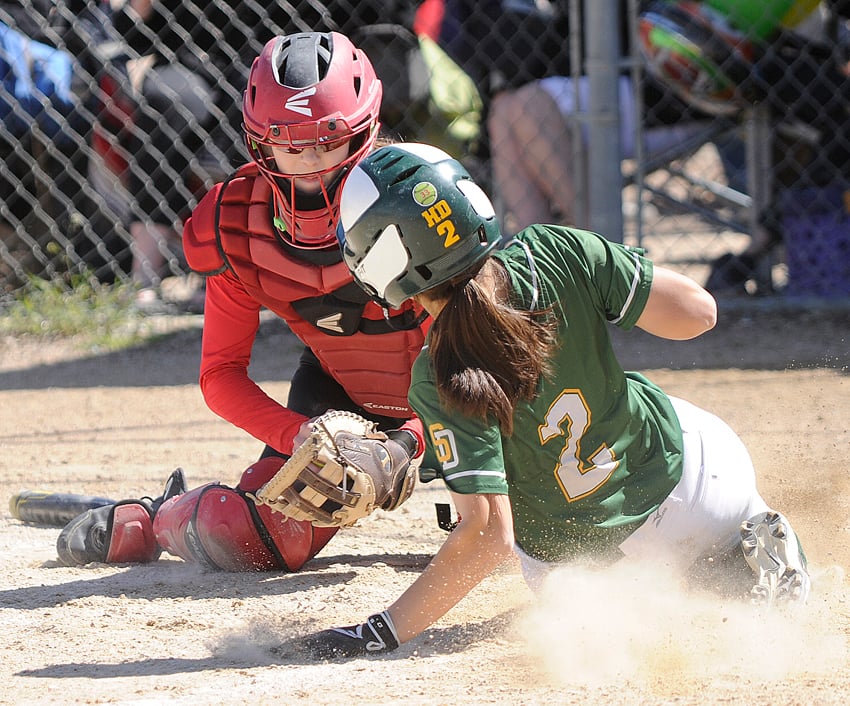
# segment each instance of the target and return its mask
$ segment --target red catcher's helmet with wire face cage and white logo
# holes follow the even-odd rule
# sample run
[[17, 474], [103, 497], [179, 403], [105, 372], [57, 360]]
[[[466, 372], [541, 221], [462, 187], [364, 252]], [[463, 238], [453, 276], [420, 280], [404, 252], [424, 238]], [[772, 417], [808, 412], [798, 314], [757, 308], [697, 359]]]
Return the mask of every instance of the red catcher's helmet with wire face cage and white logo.
[[[375, 143], [381, 82], [369, 59], [337, 32], [275, 37], [254, 60], [242, 101], [248, 154], [271, 184], [275, 224], [291, 245], [316, 249], [336, 245], [342, 179]], [[281, 172], [272, 147], [329, 150], [350, 140], [348, 156], [329, 169], [298, 174], [315, 179], [318, 193], [295, 189]], [[332, 183], [322, 175], [340, 169]]]

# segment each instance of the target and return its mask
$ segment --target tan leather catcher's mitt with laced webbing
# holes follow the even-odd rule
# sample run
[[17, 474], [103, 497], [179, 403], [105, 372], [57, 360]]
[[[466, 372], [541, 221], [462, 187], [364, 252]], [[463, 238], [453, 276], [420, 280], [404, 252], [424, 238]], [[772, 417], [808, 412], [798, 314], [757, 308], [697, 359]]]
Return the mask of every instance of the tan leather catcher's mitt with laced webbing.
[[[412, 437], [389, 432], [396, 433]], [[377, 431], [374, 422], [352, 412], [326, 412], [304, 424], [292, 457], [254, 500], [317, 527], [347, 527], [375, 508], [395, 510], [410, 497], [414, 455], [415, 449]]]

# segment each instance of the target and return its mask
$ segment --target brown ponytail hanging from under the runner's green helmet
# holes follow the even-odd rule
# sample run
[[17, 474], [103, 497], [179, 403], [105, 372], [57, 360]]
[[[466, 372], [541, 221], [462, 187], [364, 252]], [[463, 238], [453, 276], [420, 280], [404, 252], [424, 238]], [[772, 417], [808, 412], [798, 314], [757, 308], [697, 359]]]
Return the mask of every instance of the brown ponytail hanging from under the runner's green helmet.
[[517, 403], [532, 399], [549, 373], [557, 343], [549, 312], [516, 309], [509, 292], [508, 274], [492, 258], [471, 279], [467, 273], [428, 292], [446, 301], [430, 344], [441, 401], [471, 417], [492, 415], [506, 436]]

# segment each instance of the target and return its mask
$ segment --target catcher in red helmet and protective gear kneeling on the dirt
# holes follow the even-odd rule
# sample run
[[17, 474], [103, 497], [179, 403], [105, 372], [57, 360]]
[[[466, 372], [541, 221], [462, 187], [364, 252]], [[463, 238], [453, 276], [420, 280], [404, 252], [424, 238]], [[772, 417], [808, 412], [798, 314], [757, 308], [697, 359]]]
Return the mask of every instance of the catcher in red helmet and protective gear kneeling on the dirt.
[[[375, 144], [380, 104], [366, 55], [336, 32], [276, 37], [254, 61], [242, 108], [251, 162], [198, 204], [183, 247], [206, 276], [204, 399], [265, 449], [236, 487], [187, 490], [178, 469], [160, 497], [81, 514], [59, 536], [61, 561], [145, 562], [165, 550], [229, 571], [297, 571], [339, 527], [288, 518], [256, 495], [328, 410], [375, 423], [357, 458], [377, 459], [369, 463], [381, 467], [383, 489], [363, 512], [375, 497], [394, 509], [409, 496], [423, 439], [407, 389], [425, 314], [371, 302], [336, 237], [340, 186]], [[304, 344], [285, 406], [248, 375], [263, 308]], [[304, 495], [296, 487], [292, 497]]]

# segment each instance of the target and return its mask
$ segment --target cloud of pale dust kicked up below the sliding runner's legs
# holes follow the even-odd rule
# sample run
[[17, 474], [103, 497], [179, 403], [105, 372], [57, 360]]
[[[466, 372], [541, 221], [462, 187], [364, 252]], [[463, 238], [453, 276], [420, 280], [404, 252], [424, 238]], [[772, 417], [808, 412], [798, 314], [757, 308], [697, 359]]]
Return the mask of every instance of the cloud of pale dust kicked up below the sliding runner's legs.
[[657, 569], [564, 567], [518, 628], [547, 677], [565, 685], [833, 673], [850, 655], [844, 574], [812, 578], [805, 606], [769, 609], [689, 592]]

